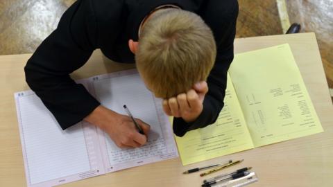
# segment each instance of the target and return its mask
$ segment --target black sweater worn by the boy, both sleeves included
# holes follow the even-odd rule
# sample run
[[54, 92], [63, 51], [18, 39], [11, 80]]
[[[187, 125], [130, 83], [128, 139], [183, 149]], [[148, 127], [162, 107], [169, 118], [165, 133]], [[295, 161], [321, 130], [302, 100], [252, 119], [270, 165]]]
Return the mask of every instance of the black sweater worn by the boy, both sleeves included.
[[28, 60], [26, 82], [42, 99], [63, 130], [83, 120], [99, 101], [69, 76], [101, 48], [116, 62], [135, 63], [128, 39], [138, 39], [139, 24], [157, 6], [173, 4], [196, 12], [214, 33], [217, 55], [208, 79], [203, 112], [192, 123], [173, 121], [173, 132], [187, 131], [216, 121], [223, 107], [227, 71], [234, 57], [233, 42], [238, 15], [237, 0], [78, 0], [62, 15], [56, 30]]

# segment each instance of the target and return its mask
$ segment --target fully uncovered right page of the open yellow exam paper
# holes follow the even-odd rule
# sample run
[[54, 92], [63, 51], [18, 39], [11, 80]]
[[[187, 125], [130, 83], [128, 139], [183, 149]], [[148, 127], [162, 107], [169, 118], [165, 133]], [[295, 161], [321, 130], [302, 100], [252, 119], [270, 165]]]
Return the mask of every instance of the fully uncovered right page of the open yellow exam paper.
[[289, 44], [235, 55], [229, 73], [255, 147], [323, 132]]

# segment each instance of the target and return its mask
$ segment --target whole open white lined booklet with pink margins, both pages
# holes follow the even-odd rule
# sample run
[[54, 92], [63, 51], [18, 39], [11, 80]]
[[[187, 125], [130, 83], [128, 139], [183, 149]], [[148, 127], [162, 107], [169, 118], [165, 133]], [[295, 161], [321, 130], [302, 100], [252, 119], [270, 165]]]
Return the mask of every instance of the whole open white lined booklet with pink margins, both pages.
[[92, 96], [97, 93], [103, 105], [125, 115], [122, 106], [127, 105], [133, 116], [150, 124], [148, 142], [141, 148], [122, 150], [108, 134], [84, 121], [63, 131], [33, 91], [15, 93], [28, 186], [57, 186], [178, 157], [162, 102], [146, 89], [136, 70], [77, 82]]

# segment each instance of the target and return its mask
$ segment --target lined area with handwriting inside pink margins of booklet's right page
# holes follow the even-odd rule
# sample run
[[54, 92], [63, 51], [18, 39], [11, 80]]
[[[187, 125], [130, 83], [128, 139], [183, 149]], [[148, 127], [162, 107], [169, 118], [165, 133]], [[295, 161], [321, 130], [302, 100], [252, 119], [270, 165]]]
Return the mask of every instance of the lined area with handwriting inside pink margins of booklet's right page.
[[[123, 105], [127, 105], [135, 118], [151, 125], [148, 143], [142, 148], [121, 149], [104, 134], [110, 165], [155, 157], [167, 153], [167, 146], [161, 129], [153, 94], [146, 89], [138, 73], [120, 75], [94, 81], [96, 98], [114, 112], [127, 115]], [[161, 100], [157, 100], [161, 102]], [[110, 124], [111, 125], [111, 124]]]

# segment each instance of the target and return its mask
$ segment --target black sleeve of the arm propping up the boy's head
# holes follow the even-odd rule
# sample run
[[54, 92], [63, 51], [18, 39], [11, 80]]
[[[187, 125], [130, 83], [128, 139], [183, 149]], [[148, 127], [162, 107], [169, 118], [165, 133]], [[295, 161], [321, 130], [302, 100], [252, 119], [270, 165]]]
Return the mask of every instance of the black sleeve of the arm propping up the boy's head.
[[[225, 2], [225, 1], [221, 1]], [[216, 23], [216, 17], [208, 12], [206, 23], [210, 25], [216, 39], [217, 55], [216, 61], [210, 75], [207, 78], [209, 91], [203, 101], [203, 112], [196, 121], [186, 123], [182, 118], [173, 118], [173, 132], [177, 136], [184, 136], [186, 132], [198, 128], [206, 127], [214, 123], [224, 105], [225, 89], [227, 87], [227, 73], [234, 58], [234, 37], [236, 35], [236, 22], [238, 16], [238, 3], [232, 1], [232, 9], [229, 13], [219, 19], [221, 25]], [[219, 12], [219, 11], [216, 11]]]

